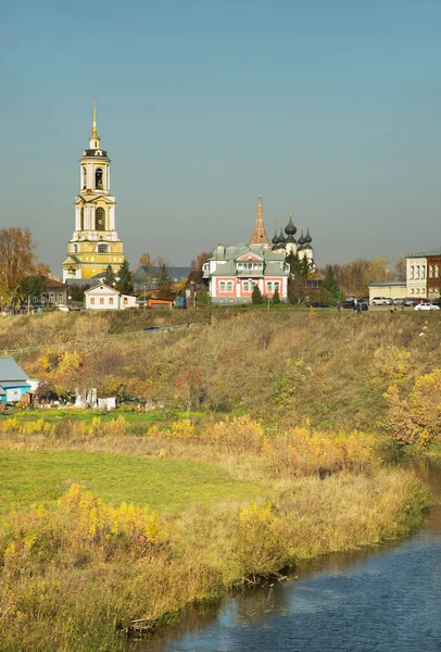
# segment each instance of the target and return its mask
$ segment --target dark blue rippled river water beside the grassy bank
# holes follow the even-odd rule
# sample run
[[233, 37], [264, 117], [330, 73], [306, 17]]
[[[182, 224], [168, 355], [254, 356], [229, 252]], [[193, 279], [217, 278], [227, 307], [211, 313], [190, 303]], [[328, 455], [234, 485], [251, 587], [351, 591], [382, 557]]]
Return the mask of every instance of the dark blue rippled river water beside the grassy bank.
[[[441, 469], [418, 474], [441, 498]], [[441, 506], [399, 544], [328, 555], [297, 578], [194, 609], [137, 652], [441, 652]]]

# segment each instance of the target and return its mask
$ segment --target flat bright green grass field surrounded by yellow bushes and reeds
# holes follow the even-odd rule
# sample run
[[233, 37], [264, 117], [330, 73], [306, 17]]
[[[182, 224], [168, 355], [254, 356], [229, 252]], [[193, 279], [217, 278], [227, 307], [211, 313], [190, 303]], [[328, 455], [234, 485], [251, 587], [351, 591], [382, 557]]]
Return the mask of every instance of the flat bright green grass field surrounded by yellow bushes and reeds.
[[148, 504], [160, 513], [269, 494], [211, 464], [76, 451], [0, 451], [0, 478], [1, 515], [33, 503], [49, 505], [73, 482], [105, 502]]

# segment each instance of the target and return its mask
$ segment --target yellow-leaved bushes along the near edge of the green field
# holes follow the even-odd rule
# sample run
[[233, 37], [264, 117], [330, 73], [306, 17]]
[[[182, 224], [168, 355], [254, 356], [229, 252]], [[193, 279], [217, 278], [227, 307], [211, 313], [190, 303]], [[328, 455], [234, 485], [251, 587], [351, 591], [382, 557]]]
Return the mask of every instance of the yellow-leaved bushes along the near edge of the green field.
[[148, 506], [104, 503], [72, 485], [55, 507], [12, 512], [0, 534], [0, 566], [14, 573], [26, 560], [43, 562], [65, 553], [109, 561], [119, 552], [140, 559], [161, 548], [166, 536]]

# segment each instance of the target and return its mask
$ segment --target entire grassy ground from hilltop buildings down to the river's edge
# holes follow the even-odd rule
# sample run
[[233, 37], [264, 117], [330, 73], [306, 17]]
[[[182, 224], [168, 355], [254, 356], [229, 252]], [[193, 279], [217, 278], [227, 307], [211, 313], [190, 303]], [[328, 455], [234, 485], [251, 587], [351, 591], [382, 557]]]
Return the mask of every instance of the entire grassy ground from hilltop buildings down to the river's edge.
[[439, 438], [437, 314], [53, 313], [0, 338], [60, 393], [141, 399], [0, 415], [0, 650], [125, 650], [134, 619], [421, 523], [379, 443], [391, 413], [394, 441]]

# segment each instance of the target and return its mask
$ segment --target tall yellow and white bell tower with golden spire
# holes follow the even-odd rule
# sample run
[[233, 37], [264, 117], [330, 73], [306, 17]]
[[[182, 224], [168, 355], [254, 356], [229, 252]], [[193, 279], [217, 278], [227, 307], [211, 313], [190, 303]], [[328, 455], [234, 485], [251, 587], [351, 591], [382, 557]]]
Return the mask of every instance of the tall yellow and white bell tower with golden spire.
[[89, 148], [79, 161], [79, 195], [75, 198], [75, 229], [62, 263], [63, 281], [91, 279], [124, 262], [124, 246], [115, 223], [115, 198], [111, 195], [110, 159], [101, 149], [93, 99], [93, 124]]

